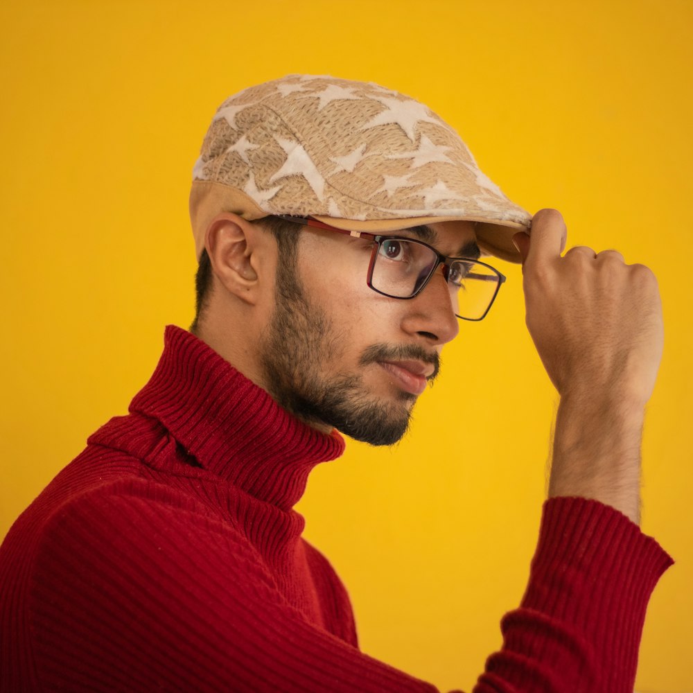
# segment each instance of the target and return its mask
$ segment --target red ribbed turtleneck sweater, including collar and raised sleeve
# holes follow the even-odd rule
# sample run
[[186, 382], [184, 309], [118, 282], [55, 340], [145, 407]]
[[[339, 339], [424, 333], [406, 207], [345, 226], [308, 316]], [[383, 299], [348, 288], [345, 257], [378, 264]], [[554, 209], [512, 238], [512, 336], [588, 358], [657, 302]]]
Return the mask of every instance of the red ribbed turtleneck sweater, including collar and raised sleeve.
[[[0, 690], [404, 692], [292, 510], [341, 437], [304, 426], [180, 328], [0, 548]], [[527, 592], [476, 693], [633, 690], [671, 563], [594, 501], [545, 504]]]

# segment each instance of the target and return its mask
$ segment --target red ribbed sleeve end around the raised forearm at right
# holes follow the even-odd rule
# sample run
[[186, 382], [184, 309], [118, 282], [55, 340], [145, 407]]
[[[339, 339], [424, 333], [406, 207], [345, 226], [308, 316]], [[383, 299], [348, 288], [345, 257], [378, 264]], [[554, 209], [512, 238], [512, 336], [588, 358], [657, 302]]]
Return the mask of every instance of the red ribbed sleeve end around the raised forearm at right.
[[548, 500], [527, 590], [474, 693], [632, 693], [647, 603], [672, 563], [619, 511]]

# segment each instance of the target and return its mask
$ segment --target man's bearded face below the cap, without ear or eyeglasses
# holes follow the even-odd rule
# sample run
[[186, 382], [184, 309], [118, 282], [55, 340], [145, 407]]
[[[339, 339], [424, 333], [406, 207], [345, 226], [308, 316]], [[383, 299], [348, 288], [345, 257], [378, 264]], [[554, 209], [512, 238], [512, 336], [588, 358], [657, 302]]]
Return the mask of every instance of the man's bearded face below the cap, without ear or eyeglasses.
[[[431, 225], [448, 256], [474, 240], [471, 222]], [[458, 331], [441, 268], [415, 298], [366, 284], [368, 240], [304, 229], [295, 267], [279, 257], [274, 312], [260, 344], [265, 385], [279, 404], [316, 426], [373, 445], [404, 435], [416, 398]], [[397, 236], [417, 238], [412, 231]]]

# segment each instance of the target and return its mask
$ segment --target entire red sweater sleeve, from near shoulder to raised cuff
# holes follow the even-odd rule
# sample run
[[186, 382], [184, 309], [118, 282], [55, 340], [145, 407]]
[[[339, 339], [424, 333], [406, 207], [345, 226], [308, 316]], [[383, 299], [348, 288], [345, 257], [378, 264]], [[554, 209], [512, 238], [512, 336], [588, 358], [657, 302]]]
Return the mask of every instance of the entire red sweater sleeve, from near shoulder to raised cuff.
[[[310, 624], [232, 527], [134, 493], [55, 514], [30, 599], [41, 690], [433, 692]], [[545, 507], [527, 593], [475, 693], [632, 691], [668, 556], [598, 503]]]

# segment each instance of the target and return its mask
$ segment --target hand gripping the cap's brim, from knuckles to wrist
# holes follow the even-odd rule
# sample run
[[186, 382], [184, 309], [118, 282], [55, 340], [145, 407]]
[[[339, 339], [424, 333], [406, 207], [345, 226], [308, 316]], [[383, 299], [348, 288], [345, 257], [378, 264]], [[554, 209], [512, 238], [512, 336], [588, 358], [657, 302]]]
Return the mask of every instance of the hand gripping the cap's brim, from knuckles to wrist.
[[657, 280], [614, 250], [574, 247], [563, 257], [565, 224], [555, 209], [515, 236], [523, 256], [527, 328], [547, 374], [563, 395], [617, 388], [644, 405], [662, 356]]

